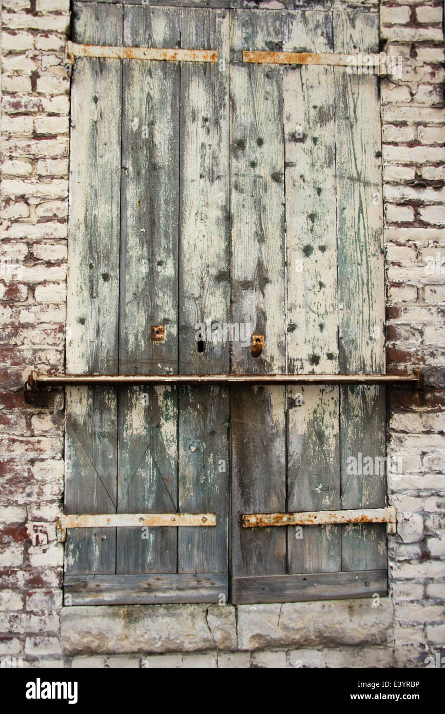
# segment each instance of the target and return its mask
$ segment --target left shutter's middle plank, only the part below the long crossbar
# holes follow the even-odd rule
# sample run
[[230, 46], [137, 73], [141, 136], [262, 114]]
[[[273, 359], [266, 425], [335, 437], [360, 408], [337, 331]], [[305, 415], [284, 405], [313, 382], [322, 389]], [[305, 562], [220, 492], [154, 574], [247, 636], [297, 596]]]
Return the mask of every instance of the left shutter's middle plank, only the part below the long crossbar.
[[[177, 416], [170, 386], [119, 391], [118, 513], [178, 511]], [[175, 573], [177, 531], [118, 528], [116, 572]]]

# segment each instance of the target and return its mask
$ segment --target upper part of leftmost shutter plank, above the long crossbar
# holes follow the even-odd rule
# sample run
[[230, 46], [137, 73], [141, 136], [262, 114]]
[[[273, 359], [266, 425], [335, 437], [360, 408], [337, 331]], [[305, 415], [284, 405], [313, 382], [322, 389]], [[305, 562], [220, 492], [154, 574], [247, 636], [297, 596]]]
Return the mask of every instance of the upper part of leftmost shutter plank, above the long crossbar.
[[[122, 43], [120, 6], [75, 11], [76, 41]], [[121, 87], [120, 62], [76, 61], [66, 318], [66, 369], [73, 374], [116, 374], [118, 368]]]

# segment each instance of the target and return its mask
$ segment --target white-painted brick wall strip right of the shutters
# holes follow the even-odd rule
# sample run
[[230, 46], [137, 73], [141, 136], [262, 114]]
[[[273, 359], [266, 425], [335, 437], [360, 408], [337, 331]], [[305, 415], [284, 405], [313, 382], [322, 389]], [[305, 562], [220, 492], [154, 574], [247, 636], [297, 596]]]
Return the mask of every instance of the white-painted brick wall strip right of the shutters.
[[387, 369], [420, 367], [427, 383], [389, 391], [388, 449], [403, 471], [389, 477], [394, 663], [414, 666], [445, 648], [443, 4], [390, 0], [380, 21], [385, 51], [402, 58], [401, 78], [382, 81]]

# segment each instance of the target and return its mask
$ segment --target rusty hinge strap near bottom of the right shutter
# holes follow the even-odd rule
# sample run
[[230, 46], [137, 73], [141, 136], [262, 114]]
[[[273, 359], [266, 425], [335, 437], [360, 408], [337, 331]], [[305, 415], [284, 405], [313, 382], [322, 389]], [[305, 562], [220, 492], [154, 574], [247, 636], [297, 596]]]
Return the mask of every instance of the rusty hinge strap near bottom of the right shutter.
[[334, 523], [387, 523], [388, 533], [395, 533], [396, 509], [388, 507], [344, 511], [302, 511], [300, 513], [244, 513], [242, 516], [242, 528], [329, 526]]

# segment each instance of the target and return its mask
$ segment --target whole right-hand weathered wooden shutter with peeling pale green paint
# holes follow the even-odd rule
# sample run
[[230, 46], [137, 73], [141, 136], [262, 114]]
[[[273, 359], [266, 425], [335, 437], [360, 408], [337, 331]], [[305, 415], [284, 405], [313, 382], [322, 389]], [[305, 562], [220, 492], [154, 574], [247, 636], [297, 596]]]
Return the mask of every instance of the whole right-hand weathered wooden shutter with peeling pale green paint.
[[[378, 16], [237, 11], [233, 42], [375, 52]], [[384, 371], [377, 81], [344, 66], [232, 68], [232, 146], [245, 143], [230, 171], [232, 317], [266, 336], [263, 359], [235, 355], [238, 371]], [[349, 456], [384, 456], [384, 415], [374, 386], [232, 393], [234, 603], [386, 592], [384, 525], [241, 526], [242, 513], [384, 506], [383, 475], [347, 476]]]

